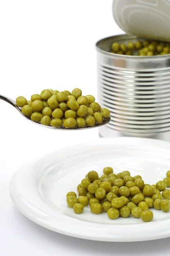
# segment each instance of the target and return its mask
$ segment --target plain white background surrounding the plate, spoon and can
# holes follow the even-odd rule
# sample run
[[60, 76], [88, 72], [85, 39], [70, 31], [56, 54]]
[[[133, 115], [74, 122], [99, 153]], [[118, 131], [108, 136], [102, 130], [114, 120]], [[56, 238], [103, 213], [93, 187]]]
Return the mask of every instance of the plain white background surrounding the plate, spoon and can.
[[[95, 43], [122, 34], [112, 17], [112, 0], [0, 1], [0, 93], [15, 99], [44, 88], [69, 90], [80, 85], [96, 95]], [[48, 230], [22, 215], [9, 195], [15, 171], [32, 157], [66, 144], [98, 138], [51, 131], [33, 125], [0, 101], [0, 255], [85, 256], [169, 255], [170, 238], [146, 242], [98, 242]], [[6, 125], [6, 126], [5, 126]]]

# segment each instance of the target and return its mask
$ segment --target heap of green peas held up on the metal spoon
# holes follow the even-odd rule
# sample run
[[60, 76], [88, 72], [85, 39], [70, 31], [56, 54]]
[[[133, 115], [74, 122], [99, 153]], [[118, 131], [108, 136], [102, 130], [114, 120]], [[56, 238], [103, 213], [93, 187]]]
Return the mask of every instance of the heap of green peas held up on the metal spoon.
[[32, 121], [56, 128], [92, 127], [110, 117], [107, 108], [101, 108], [94, 96], [83, 96], [79, 88], [72, 92], [46, 89], [33, 94], [31, 100], [19, 96], [16, 105]]

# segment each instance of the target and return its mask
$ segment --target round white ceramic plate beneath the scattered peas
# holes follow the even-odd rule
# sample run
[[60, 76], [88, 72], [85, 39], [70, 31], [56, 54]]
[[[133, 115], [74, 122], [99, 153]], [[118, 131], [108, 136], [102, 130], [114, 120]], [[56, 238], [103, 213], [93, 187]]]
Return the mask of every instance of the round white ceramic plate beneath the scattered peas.
[[101, 138], [69, 146], [21, 166], [13, 175], [10, 195], [30, 220], [68, 236], [99, 241], [143, 241], [170, 236], [170, 212], [153, 210], [154, 219], [133, 217], [110, 220], [107, 213], [93, 214], [85, 207], [76, 214], [67, 207], [66, 193], [75, 191], [88, 171], [102, 175], [103, 167], [114, 173], [129, 170], [145, 183], [155, 184], [170, 169], [170, 143], [148, 138]]

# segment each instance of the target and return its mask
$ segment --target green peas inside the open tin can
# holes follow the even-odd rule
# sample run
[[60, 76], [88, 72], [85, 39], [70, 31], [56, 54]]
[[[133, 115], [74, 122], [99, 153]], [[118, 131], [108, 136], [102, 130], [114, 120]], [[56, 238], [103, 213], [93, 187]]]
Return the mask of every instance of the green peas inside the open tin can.
[[170, 54], [170, 43], [151, 40], [136, 40], [128, 43], [112, 43], [110, 52], [122, 55], [154, 56]]

